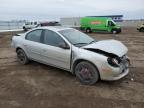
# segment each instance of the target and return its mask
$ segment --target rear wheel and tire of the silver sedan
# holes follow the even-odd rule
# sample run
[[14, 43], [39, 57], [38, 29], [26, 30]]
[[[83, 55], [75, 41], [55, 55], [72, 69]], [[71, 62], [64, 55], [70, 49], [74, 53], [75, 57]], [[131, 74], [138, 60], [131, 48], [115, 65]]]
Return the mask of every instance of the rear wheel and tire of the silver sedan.
[[29, 62], [28, 57], [26, 56], [25, 52], [22, 49], [18, 49], [16, 53], [17, 53], [17, 59], [19, 63], [25, 65]]

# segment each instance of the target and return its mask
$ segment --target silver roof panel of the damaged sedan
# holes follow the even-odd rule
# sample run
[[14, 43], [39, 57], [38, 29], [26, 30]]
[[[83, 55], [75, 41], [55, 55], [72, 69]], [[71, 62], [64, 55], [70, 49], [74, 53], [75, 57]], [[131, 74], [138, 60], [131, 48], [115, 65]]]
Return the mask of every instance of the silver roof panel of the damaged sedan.
[[66, 30], [66, 29], [73, 29], [73, 28], [68, 28], [68, 27], [62, 27], [62, 26], [46, 26], [46, 27], [37, 27], [36, 29], [48, 29], [52, 31], [61, 31], [61, 30]]

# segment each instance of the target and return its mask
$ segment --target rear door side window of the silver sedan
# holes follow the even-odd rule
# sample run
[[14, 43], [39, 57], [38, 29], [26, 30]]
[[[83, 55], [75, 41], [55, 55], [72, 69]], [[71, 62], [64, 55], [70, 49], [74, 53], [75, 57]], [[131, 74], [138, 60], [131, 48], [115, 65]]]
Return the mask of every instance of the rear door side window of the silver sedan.
[[34, 42], [41, 42], [42, 30], [34, 30], [26, 35], [26, 39]]

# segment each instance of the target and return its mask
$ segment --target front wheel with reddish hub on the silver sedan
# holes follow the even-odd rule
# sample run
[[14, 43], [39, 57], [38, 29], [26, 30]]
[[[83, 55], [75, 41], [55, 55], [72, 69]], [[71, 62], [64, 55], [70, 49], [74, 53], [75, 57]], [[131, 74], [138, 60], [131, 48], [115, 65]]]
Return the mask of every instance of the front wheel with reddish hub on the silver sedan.
[[84, 85], [93, 85], [99, 80], [99, 72], [96, 67], [86, 61], [76, 65], [75, 74], [78, 80]]

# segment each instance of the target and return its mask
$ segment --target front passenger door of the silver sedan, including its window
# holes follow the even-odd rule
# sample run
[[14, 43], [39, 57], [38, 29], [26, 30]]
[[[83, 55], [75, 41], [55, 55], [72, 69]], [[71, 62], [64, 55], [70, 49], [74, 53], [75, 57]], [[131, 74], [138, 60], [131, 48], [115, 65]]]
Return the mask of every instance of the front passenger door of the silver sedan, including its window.
[[45, 30], [43, 36], [43, 62], [69, 70], [71, 60], [71, 48], [60, 48], [59, 45], [61, 43], [67, 43], [59, 34], [54, 31]]

